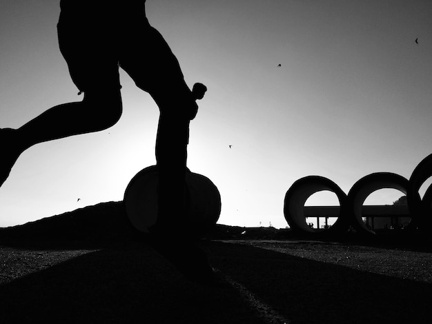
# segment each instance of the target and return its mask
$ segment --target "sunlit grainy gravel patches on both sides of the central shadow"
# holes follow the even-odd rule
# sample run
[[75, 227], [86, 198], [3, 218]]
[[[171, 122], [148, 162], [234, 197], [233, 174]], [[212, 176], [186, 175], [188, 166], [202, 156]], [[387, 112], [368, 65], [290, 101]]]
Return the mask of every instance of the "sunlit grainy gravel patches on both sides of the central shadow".
[[[251, 245], [355, 270], [432, 283], [432, 254], [319, 241], [224, 241]], [[24, 250], [0, 247], [0, 284], [95, 250]]]

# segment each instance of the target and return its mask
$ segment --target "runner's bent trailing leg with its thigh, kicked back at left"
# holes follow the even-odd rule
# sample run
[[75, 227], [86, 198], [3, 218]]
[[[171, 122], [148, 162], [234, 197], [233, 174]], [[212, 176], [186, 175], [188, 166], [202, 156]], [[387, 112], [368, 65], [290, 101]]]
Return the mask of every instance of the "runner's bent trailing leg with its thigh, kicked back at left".
[[[59, 48], [70, 77], [84, 100], [43, 112], [17, 130], [0, 130], [0, 185], [30, 146], [75, 134], [104, 130], [121, 116], [119, 34], [114, 12], [99, 12], [102, 3], [81, 6], [64, 1], [57, 25]], [[99, 7], [101, 5], [101, 7]]]

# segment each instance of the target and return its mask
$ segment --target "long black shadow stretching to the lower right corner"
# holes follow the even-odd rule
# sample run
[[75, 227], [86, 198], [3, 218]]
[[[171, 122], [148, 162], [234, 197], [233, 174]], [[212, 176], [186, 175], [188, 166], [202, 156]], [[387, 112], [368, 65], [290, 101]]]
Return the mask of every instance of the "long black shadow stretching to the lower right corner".
[[292, 323], [432, 323], [432, 285], [238, 244], [206, 246], [212, 264]]

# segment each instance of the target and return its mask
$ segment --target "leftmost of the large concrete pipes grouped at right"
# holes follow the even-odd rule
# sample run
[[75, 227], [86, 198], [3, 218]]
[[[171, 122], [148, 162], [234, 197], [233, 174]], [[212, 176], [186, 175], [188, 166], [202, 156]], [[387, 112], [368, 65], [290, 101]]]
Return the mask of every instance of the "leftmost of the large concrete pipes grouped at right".
[[[326, 230], [317, 231], [309, 227], [306, 223], [304, 215], [304, 203], [306, 200], [320, 191], [334, 192], [340, 203], [340, 214], [333, 226]], [[284, 216], [290, 227], [303, 234], [342, 234], [348, 230], [348, 222], [342, 214], [344, 205], [346, 204], [346, 194], [342, 189], [330, 179], [323, 176], [305, 176], [291, 185], [285, 195], [284, 200]]]

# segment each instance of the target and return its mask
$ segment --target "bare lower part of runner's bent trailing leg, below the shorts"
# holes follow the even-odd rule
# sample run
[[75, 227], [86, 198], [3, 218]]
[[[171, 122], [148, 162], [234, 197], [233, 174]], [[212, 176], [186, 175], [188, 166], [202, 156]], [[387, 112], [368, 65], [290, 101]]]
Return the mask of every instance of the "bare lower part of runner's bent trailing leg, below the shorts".
[[0, 185], [19, 155], [37, 143], [104, 130], [121, 116], [120, 91], [87, 92], [84, 100], [50, 108], [17, 130], [0, 130]]

